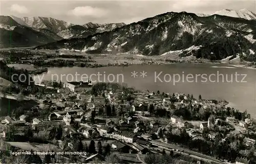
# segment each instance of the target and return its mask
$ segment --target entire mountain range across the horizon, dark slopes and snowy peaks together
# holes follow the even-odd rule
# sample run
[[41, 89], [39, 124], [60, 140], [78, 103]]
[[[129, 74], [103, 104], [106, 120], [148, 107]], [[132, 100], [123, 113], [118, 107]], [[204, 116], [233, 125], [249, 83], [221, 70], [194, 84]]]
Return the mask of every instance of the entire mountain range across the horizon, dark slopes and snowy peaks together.
[[[17, 45], [20, 39], [25, 40], [22, 45], [44, 44], [35, 49], [65, 48], [86, 53], [114, 51], [143, 55], [166, 55], [179, 51], [184, 57], [194, 55], [219, 60], [256, 52], [254, 17], [255, 14], [247, 10], [223, 10], [211, 15], [167, 12], [129, 25], [92, 22], [73, 25], [53, 18], [1, 16], [0, 30], [12, 31], [17, 39], [15, 42], [12, 37], [12, 43]], [[23, 31], [28, 35], [22, 36]], [[8, 33], [0, 36], [1, 43], [7, 40], [4, 43], [8, 46]]]

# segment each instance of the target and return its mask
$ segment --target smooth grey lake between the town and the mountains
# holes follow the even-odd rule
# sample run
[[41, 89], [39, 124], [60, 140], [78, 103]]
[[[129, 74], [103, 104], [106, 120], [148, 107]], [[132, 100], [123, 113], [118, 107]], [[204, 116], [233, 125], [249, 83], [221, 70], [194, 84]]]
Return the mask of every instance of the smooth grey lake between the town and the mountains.
[[[143, 71], [146, 75], [144, 78], [141, 76]], [[137, 76], [131, 77], [132, 72], [137, 73]], [[83, 78], [81, 78], [82, 74]], [[175, 74], [179, 74], [179, 82], [179, 76], [174, 76]], [[245, 74], [246, 77], [238, 74]], [[39, 79], [51, 80], [53, 76], [53, 80], [60, 80], [61, 75], [61, 81], [86, 80], [91, 75], [92, 81], [123, 82], [140, 90], [183, 92], [193, 94], [195, 98], [201, 95], [203, 99], [224, 99], [229, 102], [229, 106], [242, 111], [247, 109], [251, 116], [256, 117], [254, 110], [256, 107], [255, 69], [226, 64], [181, 63], [99, 68], [50, 67], [48, 73], [35, 76], [34, 79], [36, 82]]]

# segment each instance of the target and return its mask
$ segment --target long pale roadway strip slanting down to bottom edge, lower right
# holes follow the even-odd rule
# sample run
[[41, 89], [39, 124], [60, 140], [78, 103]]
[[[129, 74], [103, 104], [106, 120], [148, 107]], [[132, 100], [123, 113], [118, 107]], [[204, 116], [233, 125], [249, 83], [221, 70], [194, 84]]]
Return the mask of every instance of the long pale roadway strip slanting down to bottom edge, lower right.
[[220, 161], [220, 160], [218, 160], [214, 157], [204, 155], [204, 154], [201, 154], [201, 153], [198, 153], [198, 152], [186, 149], [186, 148], [181, 148], [179, 146], [175, 146], [175, 145], [172, 145], [172, 144], [162, 143], [162, 142], [159, 142], [159, 141], [156, 141], [156, 140], [152, 140], [150, 142], [153, 145], [156, 145], [156, 146], [161, 146], [161, 147], [168, 148], [168, 149], [178, 149], [179, 151], [183, 151], [184, 153], [188, 153], [188, 155], [191, 154], [193, 156], [200, 157], [200, 158], [202, 158], [203, 160], [206, 160], [206, 161], [212, 161], [212, 162], [215, 162], [215, 163], [218, 163], [218, 164], [224, 164], [225, 163], [225, 162], [222, 162], [222, 161]]

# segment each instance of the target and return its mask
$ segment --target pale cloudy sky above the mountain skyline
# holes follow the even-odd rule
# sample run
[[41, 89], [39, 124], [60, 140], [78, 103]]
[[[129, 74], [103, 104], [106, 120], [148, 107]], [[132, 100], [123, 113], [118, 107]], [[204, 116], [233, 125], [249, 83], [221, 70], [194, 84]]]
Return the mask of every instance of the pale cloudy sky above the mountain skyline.
[[192, 12], [211, 14], [223, 9], [248, 9], [256, 13], [256, 1], [70, 1], [70, 0], [0, 0], [0, 14], [23, 16], [44, 16], [65, 20], [76, 25], [87, 22], [98, 24], [124, 22], [130, 24], [147, 17], [166, 12]]

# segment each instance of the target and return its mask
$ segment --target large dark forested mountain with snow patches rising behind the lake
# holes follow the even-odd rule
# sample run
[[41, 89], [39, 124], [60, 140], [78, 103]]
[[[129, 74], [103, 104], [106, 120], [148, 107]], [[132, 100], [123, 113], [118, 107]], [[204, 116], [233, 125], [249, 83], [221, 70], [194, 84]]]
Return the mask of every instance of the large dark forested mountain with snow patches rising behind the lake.
[[[86, 38], [70, 38], [36, 49], [75, 49], [86, 53], [163, 55], [196, 48], [184, 56], [219, 60], [256, 51], [256, 20], [222, 15], [168, 12]], [[198, 49], [198, 47], [200, 47]]]

